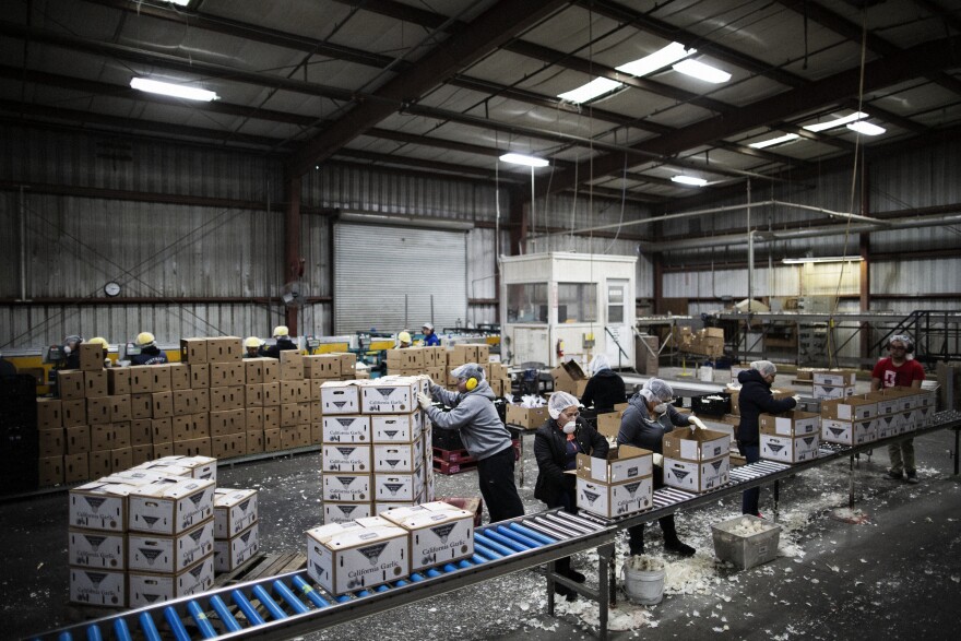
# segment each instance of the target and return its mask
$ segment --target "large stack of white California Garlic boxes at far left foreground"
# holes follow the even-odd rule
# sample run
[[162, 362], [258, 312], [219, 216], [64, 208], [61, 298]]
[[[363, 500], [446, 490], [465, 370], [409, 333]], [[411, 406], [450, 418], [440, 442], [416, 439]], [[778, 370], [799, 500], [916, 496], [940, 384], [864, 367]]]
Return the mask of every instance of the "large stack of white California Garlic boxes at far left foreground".
[[70, 601], [140, 607], [209, 590], [216, 460], [167, 456], [70, 490]]

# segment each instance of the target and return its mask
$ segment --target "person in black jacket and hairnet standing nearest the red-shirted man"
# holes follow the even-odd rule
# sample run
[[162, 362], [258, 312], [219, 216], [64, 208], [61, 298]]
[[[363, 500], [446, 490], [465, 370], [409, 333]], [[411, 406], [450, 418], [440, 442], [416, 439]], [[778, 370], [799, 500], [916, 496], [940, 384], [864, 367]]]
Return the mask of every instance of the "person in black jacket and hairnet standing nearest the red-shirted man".
[[[781, 414], [797, 406], [796, 399], [774, 400], [771, 385], [778, 367], [770, 360], [755, 360], [750, 369], [737, 375], [740, 393], [737, 406], [740, 411], [740, 423], [737, 426], [737, 449], [748, 463], [761, 460], [760, 416], [761, 414]], [[752, 487], [741, 495], [740, 513], [760, 517], [758, 503], [761, 488]]]

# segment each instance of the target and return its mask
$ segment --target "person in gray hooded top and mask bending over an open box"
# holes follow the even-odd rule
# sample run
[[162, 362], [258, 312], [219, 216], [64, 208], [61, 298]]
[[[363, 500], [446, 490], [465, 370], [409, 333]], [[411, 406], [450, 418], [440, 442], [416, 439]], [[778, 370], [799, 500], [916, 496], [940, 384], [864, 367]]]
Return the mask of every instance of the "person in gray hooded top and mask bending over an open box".
[[[618, 444], [634, 446], [654, 452], [654, 489], [664, 487], [664, 435], [675, 427], [693, 426], [704, 429], [704, 424], [696, 416], [685, 416], [675, 409], [674, 390], [661, 379], [652, 378], [628, 401], [628, 407], [620, 419], [617, 432]], [[692, 428], [692, 429], [693, 429]], [[693, 556], [695, 548], [681, 543], [677, 536], [674, 514], [657, 521], [664, 534], [664, 549], [683, 557]], [[628, 527], [630, 554], [644, 554], [644, 524]]]

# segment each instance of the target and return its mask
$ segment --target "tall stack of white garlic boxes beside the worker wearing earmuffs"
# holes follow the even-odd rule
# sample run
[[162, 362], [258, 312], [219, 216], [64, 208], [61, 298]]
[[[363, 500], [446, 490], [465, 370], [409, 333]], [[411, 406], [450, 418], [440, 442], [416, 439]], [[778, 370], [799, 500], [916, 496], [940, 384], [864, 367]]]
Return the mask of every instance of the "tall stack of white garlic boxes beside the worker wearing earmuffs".
[[425, 376], [320, 388], [324, 523], [434, 500], [432, 432], [417, 404]]

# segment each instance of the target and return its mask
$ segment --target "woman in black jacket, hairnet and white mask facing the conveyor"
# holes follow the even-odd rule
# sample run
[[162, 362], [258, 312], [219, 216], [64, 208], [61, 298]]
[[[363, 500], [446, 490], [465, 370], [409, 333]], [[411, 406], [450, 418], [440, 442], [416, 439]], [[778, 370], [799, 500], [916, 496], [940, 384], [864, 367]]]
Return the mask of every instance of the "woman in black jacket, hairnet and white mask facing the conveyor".
[[[555, 392], [547, 402], [550, 418], [534, 435], [534, 456], [537, 459], [537, 483], [534, 498], [548, 508], [563, 508], [577, 513], [577, 478], [569, 471], [577, 470], [578, 454], [607, 458], [607, 440], [580, 418], [578, 399], [567, 392]], [[578, 583], [584, 575], [571, 568], [570, 557], [558, 559], [557, 573]], [[555, 592], [573, 601], [577, 593], [563, 585]]]

